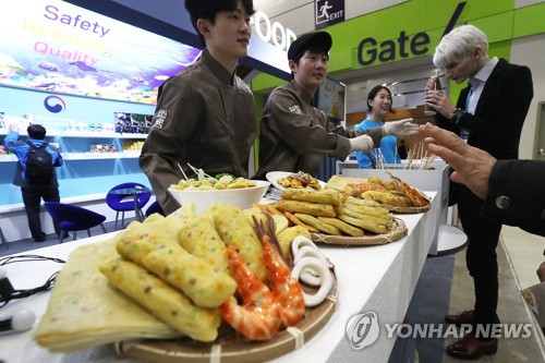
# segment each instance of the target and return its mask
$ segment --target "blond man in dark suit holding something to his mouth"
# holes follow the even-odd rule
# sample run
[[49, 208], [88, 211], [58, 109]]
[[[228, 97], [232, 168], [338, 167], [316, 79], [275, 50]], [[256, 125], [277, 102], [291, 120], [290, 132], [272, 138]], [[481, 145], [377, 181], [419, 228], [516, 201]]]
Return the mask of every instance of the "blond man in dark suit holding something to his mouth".
[[[473, 25], [462, 25], [443, 37], [435, 50], [434, 65], [445, 70], [447, 78], [458, 84], [468, 80], [469, 85], [455, 106], [440, 89], [435, 90], [433, 76], [426, 85], [426, 105], [437, 111], [438, 126], [469, 135], [469, 145], [496, 159], [517, 159], [522, 125], [533, 97], [532, 74], [528, 66], [497, 57], [491, 59], [487, 52], [486, 35]], [[457, 183], [450, 187], [451, 203], [458, 203], [463, 231], [468, 234], [465, 259], [475, 286], [475, 305], [445, 319], [450, 324], [491, 328], [499, 324], [496, 246], [501, 222], [481, 216], [483, 199], [469, 187]], [[446, 351], [455, 358], [476, 360], [496, 353], [497, 347], [497, 339], [472, 331]]]

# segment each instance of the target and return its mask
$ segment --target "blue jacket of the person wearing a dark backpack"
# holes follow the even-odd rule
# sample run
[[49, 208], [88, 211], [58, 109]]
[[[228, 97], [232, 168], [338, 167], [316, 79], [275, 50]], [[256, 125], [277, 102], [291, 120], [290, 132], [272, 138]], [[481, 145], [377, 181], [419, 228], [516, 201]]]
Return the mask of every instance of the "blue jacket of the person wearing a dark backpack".
[[[28, 141], [34, 144], [36, 147], [40, 147], [45, 143], [45, 140], [37, 140], [28, 137]], [[25, 169], [26, 169], [26, 157], [28, 152], [31, 150], [31, 146], [26, 144], [26, 142], [19, 141], [19, 133], [16, 131], [11, 131], [4, 138], [4, 146], [11, 153], [15, 154], [19, 158], [17, 168], [15, 170], [15, 176], [13, 178], [13, 184], [19, 185], [21, 187], [29, 187], [26, 182]], [[55, 167], [60, 167], [64, 161], [62, 160], [62, 156], [57, 149], [57, 147], [52, 145], [46, 146], [46, 152], [51, 154], [51, 160]], [[53, 169], [53, 178], [49, 185], [40, 185], [44, 187], [59, 187], [59, 182], [57, 180], [57, 172]]]

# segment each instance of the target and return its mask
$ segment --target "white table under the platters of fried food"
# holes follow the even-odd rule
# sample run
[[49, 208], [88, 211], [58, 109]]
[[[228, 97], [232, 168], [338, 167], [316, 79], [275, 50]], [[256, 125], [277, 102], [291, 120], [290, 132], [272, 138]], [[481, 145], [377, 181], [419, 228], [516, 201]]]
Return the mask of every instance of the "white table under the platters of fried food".
[[[427, 192], [435, 196], [434, 192]], [[275, 362], [387, 362], [396, 342], [388, 338], [385, 323], [402, 323], [414, 293], [422, 267], [436, 233], [440, 201], [434, 198], [432, 209], [424, 214], [398, 215], [408, 235], [399, 241], [377, 246], [343, 246], [319, 244], [336, 266], [339, 299], [336, 312], [314, 338]], [[25, 254], [68, 259], [70, 252], [86, 243], [96, 243], [114, 235], [92, 237], [70, 243], [29, 251]], [[5, 265], [15, 289], [43, 285], [62, 265], [52, 262]], [[49, 293], [12, 301], [0, 308], [0, 318], [22, 308], [33, 311], [38, 318], [45, 313]], [[356, 314], [373, 312], [380, 327], [377, 340], [355, 350], [347, 338], [347, 324]], [[35, 325], [36, 326], [36, 325]], [[393, 353], [396, 354], [396, 352]], [[0, 335], [0, 361], [16, 362], [136, 362], [117, 355], [112, 344], [71, 353], [51, 353], [37, 346], [33, 330]]]

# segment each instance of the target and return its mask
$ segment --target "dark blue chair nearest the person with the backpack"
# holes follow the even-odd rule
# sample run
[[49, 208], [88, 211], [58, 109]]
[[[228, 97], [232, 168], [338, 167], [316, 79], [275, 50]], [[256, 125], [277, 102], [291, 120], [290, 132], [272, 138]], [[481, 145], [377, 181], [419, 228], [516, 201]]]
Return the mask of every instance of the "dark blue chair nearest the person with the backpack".
[[71, 204], [57, 202], [45, 202], [44, 204], [51, 218], [58, 221], [61, 227], [60, 243], [69, 235], [69, 232], [74, 232], [73, 241], [77, 239], [77, 231], [87, 230], [87, 234], [90, 237], [90, 228], [96, 226], [102, 227], [102, 231], [106, 233], [106, 228], [102, 225], [106, 216], [101, 214]]

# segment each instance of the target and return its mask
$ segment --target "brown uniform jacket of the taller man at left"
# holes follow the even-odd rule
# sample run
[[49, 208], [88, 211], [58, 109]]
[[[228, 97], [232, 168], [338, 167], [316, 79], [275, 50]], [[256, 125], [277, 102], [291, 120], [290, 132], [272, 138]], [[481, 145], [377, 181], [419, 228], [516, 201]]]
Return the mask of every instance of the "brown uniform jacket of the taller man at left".
[[165, 82], [140, 156], [140, 167], [165, 213], [179, 208], [168, 193], [170, 184], [183, 178], [178, 164], [187, 177], [193, 174], [189, 162], [210, 176], [247, 178], [255, 129], [252, 92], [208, 51]]

